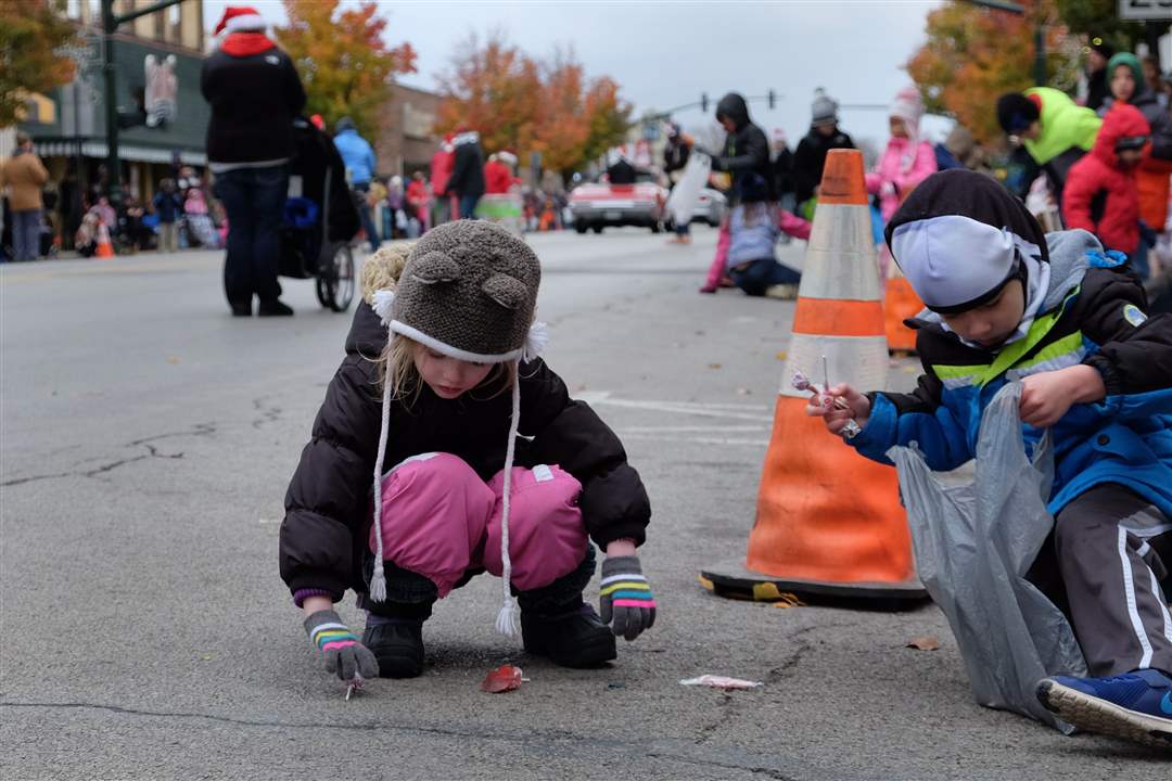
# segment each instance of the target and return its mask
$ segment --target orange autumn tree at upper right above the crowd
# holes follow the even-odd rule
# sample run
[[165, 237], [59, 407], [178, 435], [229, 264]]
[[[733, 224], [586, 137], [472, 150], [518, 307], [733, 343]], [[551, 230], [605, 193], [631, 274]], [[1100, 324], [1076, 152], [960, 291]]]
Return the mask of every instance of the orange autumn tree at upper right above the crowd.
[[1048, 84], [1074, 87], [1077, 42], [1055, 0], [1024, 0], [1026, 14], [952, 0], [931, 12], [927, 42], [907, 63], [928, 111], [949, 114], [983, 144], [996, 143], [997, 97], [1034, 85], [1034, 32], [1044, 25]]

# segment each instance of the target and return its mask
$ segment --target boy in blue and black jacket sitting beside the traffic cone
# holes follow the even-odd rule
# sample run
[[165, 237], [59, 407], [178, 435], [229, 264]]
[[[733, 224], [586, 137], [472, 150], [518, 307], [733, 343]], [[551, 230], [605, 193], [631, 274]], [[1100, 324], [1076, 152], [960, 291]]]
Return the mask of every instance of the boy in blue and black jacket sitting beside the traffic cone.
[[[1038, 699], [1083, 729], [1172, 747], [1172, 317], [1083, 231], [1044, 235], [1022, 204], [970, 171], [927, 178], [886, 231], [927, 306], [912, 393], [831, 390], [806, 412], [890, 464], [918, 443], [933, 470], [975, 453], [981, 412], [1021, 381], [1027, 447], [1052, 433], [1050, 540], [1028, 577], [1070, 618], [1093, 677], [1056, 676]], [[851, 423], [853, 422], [853, 425]]]

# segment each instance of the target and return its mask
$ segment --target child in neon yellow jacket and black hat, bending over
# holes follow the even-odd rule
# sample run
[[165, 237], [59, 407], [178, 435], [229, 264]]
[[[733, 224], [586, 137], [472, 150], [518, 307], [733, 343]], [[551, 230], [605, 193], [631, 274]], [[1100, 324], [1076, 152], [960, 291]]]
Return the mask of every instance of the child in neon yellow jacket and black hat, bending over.
[[1038, 171], [1044, 171], [1061, 204], [1067, 173], [1095, 146], [1103, 119], [1061, 90], [1033, 87], [997, 98], [997, 123], [1008, 135], [1021, 139], [1034, 163], [1021, 186], [1028, 191]]

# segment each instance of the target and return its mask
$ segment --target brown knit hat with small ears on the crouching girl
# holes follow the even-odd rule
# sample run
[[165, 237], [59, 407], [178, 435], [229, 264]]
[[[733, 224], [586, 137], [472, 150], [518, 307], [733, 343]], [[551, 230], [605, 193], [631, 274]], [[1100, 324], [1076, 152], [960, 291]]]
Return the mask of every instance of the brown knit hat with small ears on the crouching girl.
[[483, 220], [445, 222], [411, 249], [388, 327], [461, 361], [516, 361], [540, 282], [540, 262], [523, 240]]

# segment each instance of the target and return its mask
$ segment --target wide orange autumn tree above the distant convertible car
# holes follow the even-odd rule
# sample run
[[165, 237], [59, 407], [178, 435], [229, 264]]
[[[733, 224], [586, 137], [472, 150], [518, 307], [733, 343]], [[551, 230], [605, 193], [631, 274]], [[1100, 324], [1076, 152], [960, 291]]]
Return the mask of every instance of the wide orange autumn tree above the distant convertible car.
[[622, 143], [631, 126], [631, 104], [612, 78], [587, 78], [568, 49], [540, 63], [500, 34], [483, 44], [469, 37], [441, 94], [437, 131], [475, 129], [489, 152], [541, 152], [543, 166], [563, 176]]

